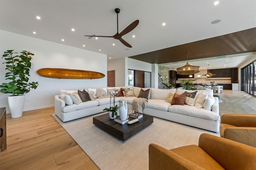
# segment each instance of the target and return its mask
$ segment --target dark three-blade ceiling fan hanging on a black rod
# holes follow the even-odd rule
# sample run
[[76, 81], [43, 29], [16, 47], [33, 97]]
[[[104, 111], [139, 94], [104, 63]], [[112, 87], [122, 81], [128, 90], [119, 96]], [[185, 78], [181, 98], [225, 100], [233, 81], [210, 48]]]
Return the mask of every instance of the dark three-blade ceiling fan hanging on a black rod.
[[120, 9], [119, 8], [116, 8], [115, 9], [115, 12], [117, 14], [117, 33], [114, 35], [114, 36], [96, 36], [95, 34], [92, 35], [92, 36], [86, 36], [86, 37], [89, 37], [92, 38], [92, 37], [107, 37], [107, 38], [114, 38], [116, 40], [119, 40], [121, 43], [123, 43], [126, 47], [132, 47], [132, 45], [130, 45], [128, 42], [124, 41], [122, 39], [122, 36], [124, 36], [125, 34], [131, 32], [134, 28], [136, 28], [136, 26], [138, 26], [139, 24], [139, 20], [136, 20], [134, 22], [132, 22], [132, 24], [130, 24], [128, 27], [126, 27], [122, 32], [118, 33], [118, 14], [120, 12]]

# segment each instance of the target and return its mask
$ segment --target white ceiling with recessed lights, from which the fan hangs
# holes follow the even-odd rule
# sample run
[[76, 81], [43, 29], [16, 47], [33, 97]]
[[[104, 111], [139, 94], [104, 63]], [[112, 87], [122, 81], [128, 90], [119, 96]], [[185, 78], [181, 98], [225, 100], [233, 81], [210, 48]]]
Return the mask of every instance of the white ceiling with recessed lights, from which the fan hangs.
[[[109, 57], [130, 57], [256, 27], [256, 0], [220, 0], [213, 6], [214, 1], [0, 0], [0, 30], [103, 53], [109, 60]], [[132, 32], [122, 37], [132, 48], [114, 38], [84, 37], [116, 34], [115, 8], [120, 8], [119, 33], [135, 20], [140, 21]], [[217, 19], [222, 21], [211, 24]], [[166, 26], [162, 26], [163, 22]], [[132, 38], [133, 35], [136, 37]]]

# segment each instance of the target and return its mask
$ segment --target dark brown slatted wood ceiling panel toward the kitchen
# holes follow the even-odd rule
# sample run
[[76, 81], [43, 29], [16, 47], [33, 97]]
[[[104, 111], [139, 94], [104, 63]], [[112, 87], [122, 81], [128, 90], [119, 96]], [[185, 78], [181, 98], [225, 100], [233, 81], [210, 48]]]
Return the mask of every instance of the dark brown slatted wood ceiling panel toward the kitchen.
[[134, 55], [130, 58], [147, 63], [162, 64], [185, 61], [187, 60], [186, 52], [189, 52], [188, 60], [192, 60], [254, 51], [256, 51], [256, 27], [206, 40]]

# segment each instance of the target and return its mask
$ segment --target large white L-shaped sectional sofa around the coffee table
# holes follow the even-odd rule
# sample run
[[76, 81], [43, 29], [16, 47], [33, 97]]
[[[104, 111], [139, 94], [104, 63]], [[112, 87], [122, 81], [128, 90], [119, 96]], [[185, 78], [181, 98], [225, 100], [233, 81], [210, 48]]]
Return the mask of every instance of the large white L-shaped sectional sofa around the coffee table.
[[[120, 88], [120, 87], [117, 87]], [[127, 101], [128, 109], [132, 109], [132, 101], [139, 95], [139, 87], [122, 87], [123, 89], [133, 89], [135, 97], [116, 97], [115, 101], [119, 104], [119, 101]], [[144, 90], [148, 88], [142, 88]], [[150, 88], [148, 95], [148, 103], [143, 113], [166, 119], [176, 123], [182, 123], [192, 127], [202, 128], [213, 132], [218, 132], [220, 127], [219, 116], [219, 103], [218, 97], [214, 97], [214, 104], [211, 106], [211, 110], [204, 108], [196, 108], [190, 105], [171, 105], [166, 102], [169, 93], [182, 94], [185, 91], [183, 89], [154, 89]], [[213, 90], [197, 90], [199, 93], [204, 93], [208, 96], [213, 96]], [[79, 119], [89, 115], [103, 112], [105, 107], [110, 107], [110, 98], [96, 99], [94, 101], [87, 101], [78, 105], [66, 105], [65, 101], [60, 99], [60, 95], [55, 96], [55, 114], [63, 121], [71, 121]]]

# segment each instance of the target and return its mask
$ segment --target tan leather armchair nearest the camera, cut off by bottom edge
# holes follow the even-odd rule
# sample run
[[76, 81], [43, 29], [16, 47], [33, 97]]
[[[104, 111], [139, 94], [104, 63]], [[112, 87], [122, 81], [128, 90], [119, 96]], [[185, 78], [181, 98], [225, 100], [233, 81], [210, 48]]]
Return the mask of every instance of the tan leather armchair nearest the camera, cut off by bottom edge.
[[149, 145], [149, 170], [255, 170], [256, 148], [203, 133], [197, 145]]

